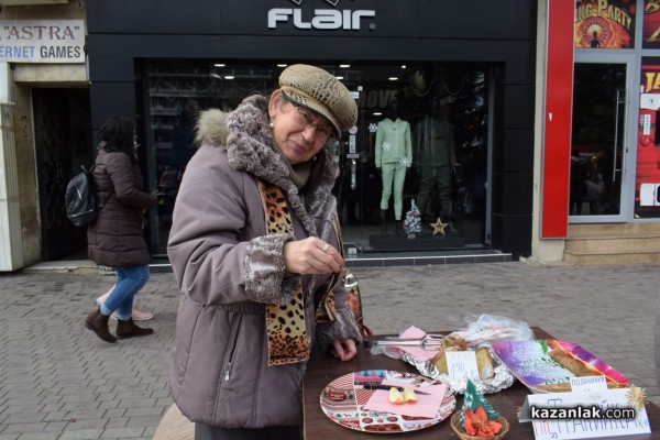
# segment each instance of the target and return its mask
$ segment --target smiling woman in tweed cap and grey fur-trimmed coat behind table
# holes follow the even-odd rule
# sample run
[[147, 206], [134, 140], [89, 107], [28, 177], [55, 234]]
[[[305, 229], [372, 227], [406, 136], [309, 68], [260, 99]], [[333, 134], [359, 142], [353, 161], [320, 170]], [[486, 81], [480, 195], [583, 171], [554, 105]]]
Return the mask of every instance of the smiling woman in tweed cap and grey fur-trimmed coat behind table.
[[174, 209], [170, 387], [198, 440], [298, 438], [314, 338], [340, 361], [361, 341], [338, 283], [338, 170], [326, 148], [355, 124], [355, 101], [307, 65], [283, 70], [279, 87], [201, 113]]

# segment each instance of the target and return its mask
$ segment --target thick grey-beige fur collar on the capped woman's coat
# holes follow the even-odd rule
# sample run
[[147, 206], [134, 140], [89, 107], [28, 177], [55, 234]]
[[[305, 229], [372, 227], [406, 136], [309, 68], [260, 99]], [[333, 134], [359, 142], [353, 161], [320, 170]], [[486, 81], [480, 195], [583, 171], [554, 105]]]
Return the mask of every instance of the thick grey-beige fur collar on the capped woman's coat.
[[[309, 182], [299, 194], [268, 127], [267, 105], [265, 97], [254, 95], [245, 98], [230, 113], [218, 109], [201, 112], [196, 141], [226, 150], [233, 169], [250, 173], [282, 188], [307, 232], [326, 240], [330, 237], [331, 230], [327, 226], [332, 223], [336, 207], [331, 190], [339, 174], [332, 155], [326, 147], [319, 152]], [[323, 221], [315, 224], [315, 218]]]

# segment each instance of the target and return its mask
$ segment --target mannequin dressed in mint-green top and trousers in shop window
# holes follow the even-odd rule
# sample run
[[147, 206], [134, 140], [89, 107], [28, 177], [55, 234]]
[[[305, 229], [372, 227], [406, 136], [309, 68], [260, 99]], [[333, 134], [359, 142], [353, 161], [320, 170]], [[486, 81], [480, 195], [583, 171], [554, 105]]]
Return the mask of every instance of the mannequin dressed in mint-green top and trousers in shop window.
[[[385, 224], [385, 212], [389, 197], [394, 194], [394, 218], [396, 232], [403, 233], [402, 211], [406, 172], [413, 165], [410, 124], [398, 118], [398, 106], [392, 103], [387, 118], [378, 122], [376, 129], [375, 165], [383, 178], [381, 195], [381, 219]], [[384, 228], [386, 232], [386, 228]]]

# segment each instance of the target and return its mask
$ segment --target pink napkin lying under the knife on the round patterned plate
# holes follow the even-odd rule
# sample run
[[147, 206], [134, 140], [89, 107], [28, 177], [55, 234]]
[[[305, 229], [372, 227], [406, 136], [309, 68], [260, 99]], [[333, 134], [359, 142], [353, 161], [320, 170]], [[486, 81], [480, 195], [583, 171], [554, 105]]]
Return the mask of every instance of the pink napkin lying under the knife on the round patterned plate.
[[[410, 384], [383, 381], [383, 385], [409, 386]], [[372, 411], [399, 414], [402, 416], [428, 417], [430, 419], [436, 418], [438, 416], [438, 409], [444, 398], [447, 384], [420, 386], [415, 389], [420, 389], [430, 394], [416, 393], [417, 402], [404, 402], [403, 404], [395, 405], [389, 403], [388, 391], [376, 389], [364, 405], [364, 408]]]

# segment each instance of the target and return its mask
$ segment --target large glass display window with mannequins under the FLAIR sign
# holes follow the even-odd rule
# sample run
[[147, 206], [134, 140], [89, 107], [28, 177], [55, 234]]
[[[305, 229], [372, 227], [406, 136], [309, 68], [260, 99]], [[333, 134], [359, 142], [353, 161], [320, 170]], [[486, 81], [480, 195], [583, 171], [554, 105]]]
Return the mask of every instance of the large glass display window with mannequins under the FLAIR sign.
[[[365, 253], [483, 248], [488, 66], [321, 67], [342, 78], [360, 110], [355, 130], [343, 133], [333, 152], [346, 246]], [[268, 95], [282, 68], [232, 63], [145, 67], [148, 174], [158, 191], [151, 234], [156, 255], [166, 253], [177, 188], [195, 153], [197, 113], [231, 110], [250, 94]], [[388, 135], [403, 128], [409, 132], [409, 153], [404, 146], [404, 154], [392, 158], [399, 145]], [[391, 188], [386, 199], [384, 188]]]

